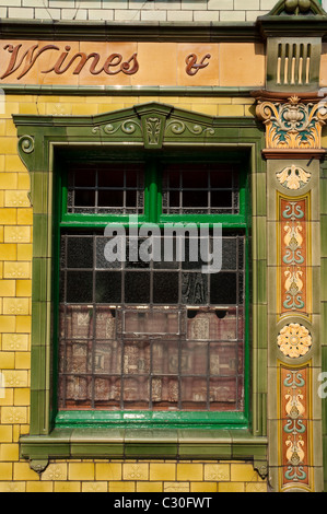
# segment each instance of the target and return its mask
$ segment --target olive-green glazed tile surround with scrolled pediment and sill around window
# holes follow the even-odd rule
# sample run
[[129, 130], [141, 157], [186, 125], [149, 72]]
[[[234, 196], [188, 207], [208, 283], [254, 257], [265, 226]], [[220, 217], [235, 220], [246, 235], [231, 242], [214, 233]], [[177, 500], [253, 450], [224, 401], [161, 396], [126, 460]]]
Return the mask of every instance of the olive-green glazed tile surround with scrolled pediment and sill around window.
[[[151, 119], [160, 133], [153, 137]], [[19, 154], [31, 174], [33, 205], [32, 288], [32, 383], [30, 434], [20, 440], [21, 456], [34, 468], [49, 458], [246, 458], [267, 471], [267, 255], [266, 164], [261, 159], [264, 130], [254, 118], [210, 117], [150, 103], [130, 109], [92, 116], [13, 116], [19, 136]], [[149, 122], [150, 121], [150, 122]], [[128, 122], [128, 130], [126, 130]], [[109, 127], [109, 130], [108, 130]], [[150, 129], [149, 129], [150, 127]], [[113, 130], [114, 129], [114, 130]], [[110, 133], [108, 133], [110, 132]], [[51, 363], [54, 297], [54, 233], [58, 201], [56, 162], [60, 152], [86, 149], [96, 153], [124, 144], [149, 151], [165, 148], [217, 148], [222, 152], [246, 151], [250, 176], [250, 400], [245, 428], [194, 424], [167, 429], [155, 423], [132, 427], [128, 414], [110, 428], [89, 417], [73, 425], [55, 425]], [[266, 471], [265, 471], [266, 469]]]

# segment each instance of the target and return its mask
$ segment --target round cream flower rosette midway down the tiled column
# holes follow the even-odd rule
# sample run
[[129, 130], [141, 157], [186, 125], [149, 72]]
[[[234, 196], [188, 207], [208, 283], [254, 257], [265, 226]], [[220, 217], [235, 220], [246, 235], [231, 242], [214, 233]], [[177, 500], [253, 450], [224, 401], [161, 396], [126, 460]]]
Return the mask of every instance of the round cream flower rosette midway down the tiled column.
[[312, 336], [303, 325], [291, 323], [280, 330], [277, 342], [285, 357], [296, 359], [308, 352], [312, 346]]

